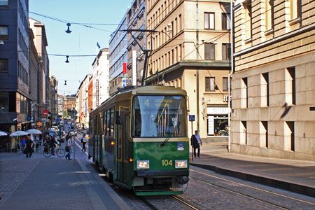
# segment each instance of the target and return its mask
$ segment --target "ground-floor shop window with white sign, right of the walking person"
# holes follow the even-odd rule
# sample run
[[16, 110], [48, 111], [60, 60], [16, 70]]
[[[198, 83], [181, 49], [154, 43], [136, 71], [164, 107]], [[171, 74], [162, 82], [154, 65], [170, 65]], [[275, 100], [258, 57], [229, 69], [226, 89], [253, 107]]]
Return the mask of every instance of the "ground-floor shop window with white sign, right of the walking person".
[[208, 136], [228, 136], [228, 115], [208, 116]]

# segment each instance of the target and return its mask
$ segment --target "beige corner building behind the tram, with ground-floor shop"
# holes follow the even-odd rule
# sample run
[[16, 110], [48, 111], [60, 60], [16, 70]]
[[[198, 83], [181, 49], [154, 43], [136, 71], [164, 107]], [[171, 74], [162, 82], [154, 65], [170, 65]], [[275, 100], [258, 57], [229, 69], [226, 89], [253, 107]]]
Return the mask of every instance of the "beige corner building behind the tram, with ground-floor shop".
[[146, 0], [146, 84], [186, 90], [204, 143], [228, 142], [230, 1]]

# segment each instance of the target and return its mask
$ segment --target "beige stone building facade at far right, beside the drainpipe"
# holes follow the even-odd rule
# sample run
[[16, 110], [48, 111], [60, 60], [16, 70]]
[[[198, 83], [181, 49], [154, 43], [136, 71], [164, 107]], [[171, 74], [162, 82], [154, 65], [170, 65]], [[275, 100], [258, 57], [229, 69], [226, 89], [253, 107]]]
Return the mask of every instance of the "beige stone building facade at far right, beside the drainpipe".
[[231, 151], [315, 160], [315, 6], [236, 1]]

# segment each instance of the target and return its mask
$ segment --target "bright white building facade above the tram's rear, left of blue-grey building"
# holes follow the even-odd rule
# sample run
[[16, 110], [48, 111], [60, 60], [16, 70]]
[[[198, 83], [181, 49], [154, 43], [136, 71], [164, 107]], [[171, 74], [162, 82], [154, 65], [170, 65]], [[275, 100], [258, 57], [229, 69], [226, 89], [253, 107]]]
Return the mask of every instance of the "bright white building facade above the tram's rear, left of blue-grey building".
[[109, 98], [109, 48], [99, 50], [93, 67], [93, 109]]

